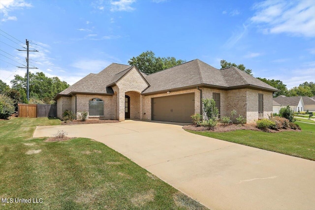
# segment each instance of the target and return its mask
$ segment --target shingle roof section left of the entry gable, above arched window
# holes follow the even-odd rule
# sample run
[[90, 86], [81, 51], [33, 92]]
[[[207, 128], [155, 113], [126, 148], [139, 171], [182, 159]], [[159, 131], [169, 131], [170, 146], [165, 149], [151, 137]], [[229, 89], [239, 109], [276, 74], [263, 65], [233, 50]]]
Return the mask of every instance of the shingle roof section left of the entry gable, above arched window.
[[111, 88], [106, 88], [106, 86], [110, 84], [117, 73], [122, 72], [128, 68], [130, 68], [130, 65], [112, 63], [98, 74], [90, 73], [88, 76], [74, 83], [72, 86], [63, 90], [58, 95], [68, 95], [71, 92], [102, 94], [113, 93], [113, 90]]

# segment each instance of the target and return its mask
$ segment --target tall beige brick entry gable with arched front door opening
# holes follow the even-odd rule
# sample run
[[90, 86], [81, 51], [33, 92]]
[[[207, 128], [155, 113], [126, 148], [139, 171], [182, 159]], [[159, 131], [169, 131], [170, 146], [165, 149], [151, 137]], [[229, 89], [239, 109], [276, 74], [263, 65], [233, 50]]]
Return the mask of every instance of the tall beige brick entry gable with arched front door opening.
[[[113, 90], [117, 91], [117, 116], [119, 120], [125, 120], [125, 93], [135, 91], [139, 93], [138, 98], [140, 100], [140, 93], [148, 87], [148, 84], [143, 80], [141, 74], [133, 68], [116, 85]], [[141, 113], [141, 108], [139, 113]]]

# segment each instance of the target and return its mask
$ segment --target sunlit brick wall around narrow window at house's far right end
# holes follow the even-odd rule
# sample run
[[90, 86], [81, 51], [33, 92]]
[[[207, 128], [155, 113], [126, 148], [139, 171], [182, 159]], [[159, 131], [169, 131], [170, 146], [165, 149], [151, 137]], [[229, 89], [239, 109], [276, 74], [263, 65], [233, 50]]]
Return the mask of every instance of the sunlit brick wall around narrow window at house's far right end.
[[254, 122], [258, 120], [258, 93], [263, 94], [264, 103], [264, 118], [268, 118], [268, 115], [273, 112], [272, 110], [272, 92], [262, 91], [262, 90], [251, 90], [247, 91], [247, 122]]

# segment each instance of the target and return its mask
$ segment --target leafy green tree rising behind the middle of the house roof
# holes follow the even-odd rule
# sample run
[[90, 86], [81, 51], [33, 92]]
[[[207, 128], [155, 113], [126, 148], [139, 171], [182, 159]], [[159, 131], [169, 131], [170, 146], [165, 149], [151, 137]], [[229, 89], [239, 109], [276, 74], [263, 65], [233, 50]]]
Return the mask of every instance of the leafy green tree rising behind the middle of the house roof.
[[152, 74], [184, 62], [186, 62], [186, 60], [176, 60], [174, 57], [156, 57], [155, 53], [152, 51], [143, 52], [139, 56], [132, 57], [128, 60], [129, 65], [136, 66], [139, 71], [146, 74]]

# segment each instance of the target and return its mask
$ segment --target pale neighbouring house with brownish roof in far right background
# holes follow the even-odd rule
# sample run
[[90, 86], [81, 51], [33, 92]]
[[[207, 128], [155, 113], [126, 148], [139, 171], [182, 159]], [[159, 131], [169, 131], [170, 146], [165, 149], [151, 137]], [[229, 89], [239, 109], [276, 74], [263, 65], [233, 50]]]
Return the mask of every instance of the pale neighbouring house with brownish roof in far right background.
[[294, 112], [305, 112], [307, 110], [315, 112], [315, 99], [308, 96], [286, 97], [284, 95], [273, 98], [274, 113], [279, 113], [279, 110], [286, 106], [290, 106]]

